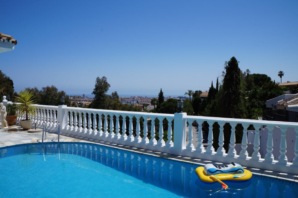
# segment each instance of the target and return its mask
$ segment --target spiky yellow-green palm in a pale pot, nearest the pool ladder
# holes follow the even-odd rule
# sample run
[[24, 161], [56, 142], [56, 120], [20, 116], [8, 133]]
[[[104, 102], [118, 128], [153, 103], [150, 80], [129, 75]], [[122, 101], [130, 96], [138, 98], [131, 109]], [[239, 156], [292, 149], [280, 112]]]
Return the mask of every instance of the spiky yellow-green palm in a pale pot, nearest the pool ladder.
[[35, 107], [31, 106], [36, 104], [34, 95], [31, 91], [23, 90], [18, 93], [18, 97], [15, 97], [15, 102], [17, 102], [15, 110], [18, 111], [18, 116], [25, 115], [25, 119], [21, 120], [21, 127], [24, 130], [31, 129], [32, 119], [29, 119], [29, 115], [35, 115]]

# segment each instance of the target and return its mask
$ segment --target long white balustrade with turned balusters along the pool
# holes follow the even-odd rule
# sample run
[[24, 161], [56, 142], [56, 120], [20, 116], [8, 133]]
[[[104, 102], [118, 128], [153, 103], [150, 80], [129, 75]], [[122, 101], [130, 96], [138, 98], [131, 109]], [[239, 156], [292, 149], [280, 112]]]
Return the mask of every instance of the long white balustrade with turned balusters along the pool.
[[[53, 132], [57, 132], [59, 121], [60, 132], [65, 134], [157, 152], [222, 163], [233, 161], [244, 166], [298, 174], [298, 123], [187, 116], [186, 113], [158, 114], [83, 109], [66, 105], [33, 106], [36, 108], [36, 113], [31, 118], [34, 119], [36, 126], [42, 128], [42, 124], [46, 122], [49, 130]], [[18, 121], [21, 119], [24, 119], [24, 115], [18, 116]], [[167, 132], [164, 131], [166, 129], [164, 119], [168, 122]], [[157, 120], [159, 120], [158, 130], [156, 130]], [[151, 122], [150, 135], [148, 135], [148, 122]], [[189, 125], [186, 140], [187, 122]], [[206, 127], [207, 123], [209, 128]], [[198, 124], [197, 136], [194, 135], [196, 124]], [[239, 129], [241, 125], [243, 135], [242, 130]], [[255, 130], [248, 134], [249, 126], [252, 125]], [[259, 126], [261, 130], [258, 129]], [[208, 129], [207, 137], [205, 133]], [[213, 138], [213, 133], [216, 134], [215, 137], [218, 136], [218, 139]], [[226, 133], [229, 134], [226, 135]], [[288, 134], [292, 134], [293, 140], [287, 140]], [[158, 140], [156, 140], [157, 135]], [[230, 139], [225, 139], [229, 135]], [[242, 140], [239, 140], [240, 135]], [[248, 138], [251, 135], [254, 136]], [[148, 136], [151, 136], [150, 140]], [[253, 141], [253, 143], [250, 142], [253, 148], [248, 146], [248, 139]], [[229, 145], [224, 144], [226, 142], [230, 142]], [[273, 142], [277, 142], [278, 145]], [[216, 146], [216, 151], [212, 144]], [[289, 157], [290, 155], [293, 156]]]

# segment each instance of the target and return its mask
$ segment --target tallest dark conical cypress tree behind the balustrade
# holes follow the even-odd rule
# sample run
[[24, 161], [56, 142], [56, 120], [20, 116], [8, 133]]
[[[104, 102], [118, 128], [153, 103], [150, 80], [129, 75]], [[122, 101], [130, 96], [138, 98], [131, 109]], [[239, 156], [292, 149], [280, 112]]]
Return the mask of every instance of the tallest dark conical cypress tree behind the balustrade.
[[242, 72], [238, 61], [232, 57], [224, 64], [225, 75], [217, 102], [217, 115], [224, 118], [244, 118], [244, 94], [241, 82]]

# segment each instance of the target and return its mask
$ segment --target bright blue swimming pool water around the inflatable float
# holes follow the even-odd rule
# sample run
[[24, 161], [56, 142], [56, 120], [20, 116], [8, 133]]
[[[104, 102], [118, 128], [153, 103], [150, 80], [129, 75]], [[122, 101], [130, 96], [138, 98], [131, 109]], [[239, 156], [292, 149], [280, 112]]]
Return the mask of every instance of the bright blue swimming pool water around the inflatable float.
[[204, 183], [197, 165], [86, 143], [0, 148], [0, 197], [298, 197], [298, 184], [253, 176]]

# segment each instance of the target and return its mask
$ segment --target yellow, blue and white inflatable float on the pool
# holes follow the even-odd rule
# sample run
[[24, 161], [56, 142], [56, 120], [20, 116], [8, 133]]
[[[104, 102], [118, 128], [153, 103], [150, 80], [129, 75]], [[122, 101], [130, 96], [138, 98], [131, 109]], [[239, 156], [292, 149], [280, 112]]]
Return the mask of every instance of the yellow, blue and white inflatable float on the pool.
[[204, 167], [200, 166], [195, 169], [195, 173], [204, 182], [220, 182], [226, 189], [221, 180], [235, 180], [243, 181], [249, 180], [252, 177], [252, 173], [249, 170], [243, 169], [240, 164], [231, 163], [225, 166], [216, 166], [214, 164], [206, 164]]

